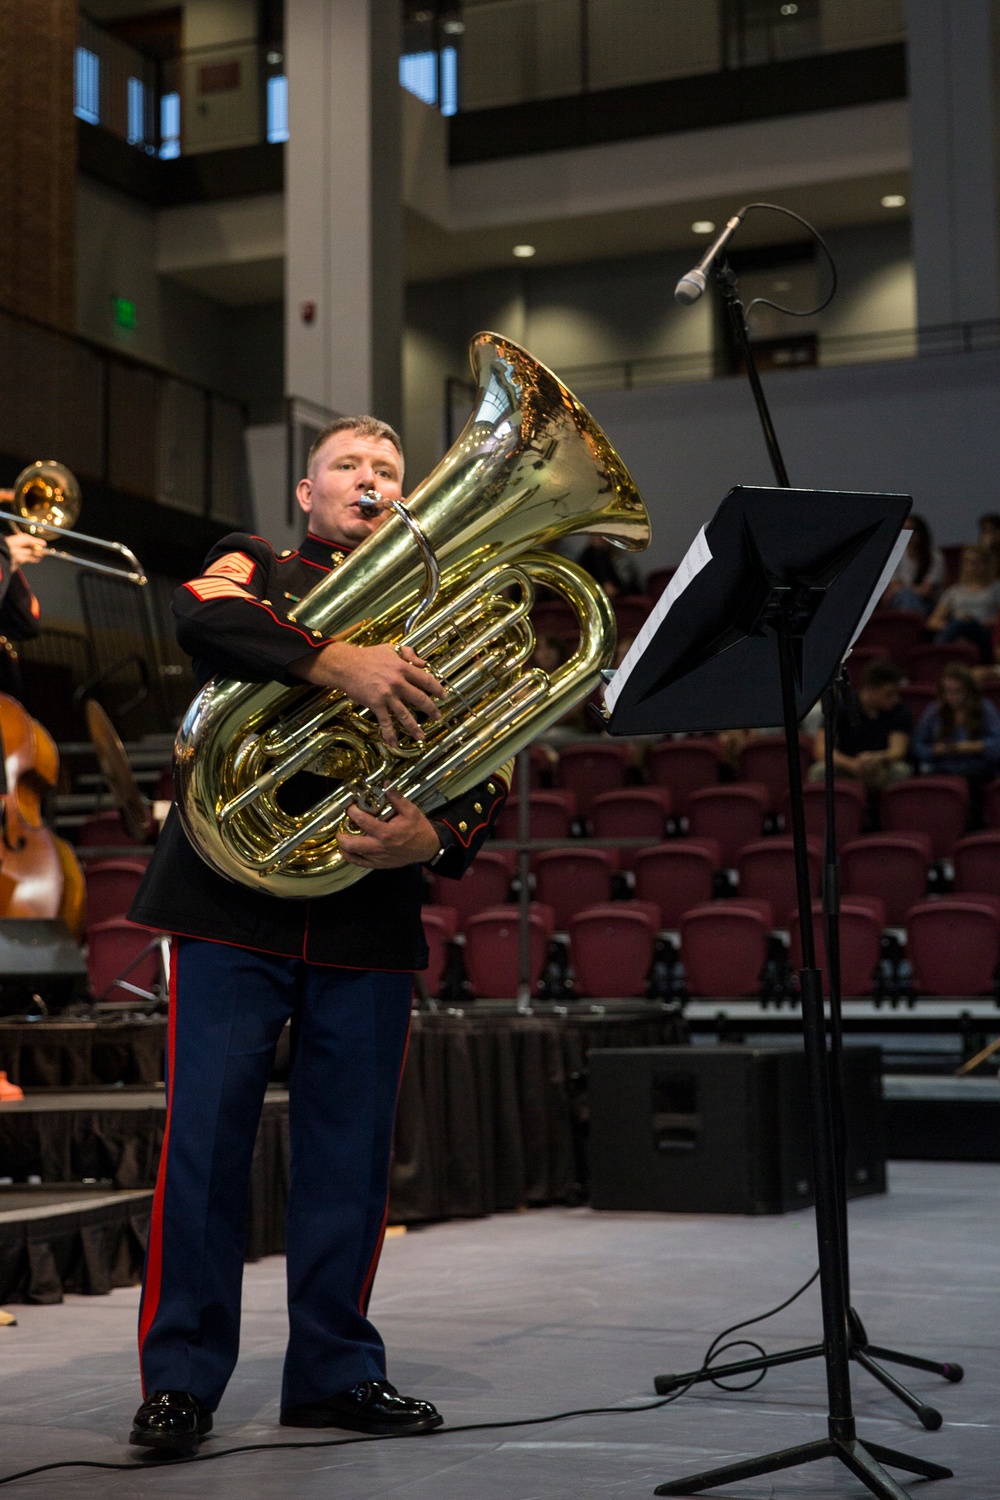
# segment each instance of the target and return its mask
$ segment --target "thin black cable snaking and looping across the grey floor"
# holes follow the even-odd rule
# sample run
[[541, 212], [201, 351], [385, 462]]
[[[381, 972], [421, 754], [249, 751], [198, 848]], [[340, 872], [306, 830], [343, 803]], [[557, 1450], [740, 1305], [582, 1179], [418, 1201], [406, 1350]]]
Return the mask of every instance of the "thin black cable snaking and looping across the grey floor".
[[[780, 1302], [777, 1308], [771, 1308], [768, 1312], [759, 1312], [756, 1317], [744, 1318], [742, 1323], [733, 1323], [732, 1328], [724, 1328], [721, 1334], [717, 1334], [709, 1347], [705, 1352], [705, 1359], [702, 1360], [699, 1376], [711, 1366], [712, 1360], [720, 1354], [726, 1353], [727, 1348], [735, 1348], [738, 1344], [748, 1344], [751, 1348], [760, 1348], [760, 1344], [754, 1344], [751, 1340], [733, 1340], [724, 1344], [723, 1340], [730, 1334], [738, 1332], [741, 1328], [750, 1328], [751, 1323], [765, 1323], [768, 1318], [775, 1317], [783, 1312], [787, 1306], [792, 1306], [804, 1292], [813, 1286], [819, 1276], [819, 1268], [813, 1272], [808, 1281], [804, 1281], [798, 1292], [793, 1292], [790, 1298]], [[766, 1370], [762, 1370], [756, 1380], [748, 1386], [724, 1386], [721, 1382], [712, 1382], [720, 1388], [720, 1390], [751, 1390], [753, 1386], [760, 1384], [766, 1376]], [[439, 1426], [433, 1432], [427, 1432], [427, 1437], [448, 1437], [454, 1432], [496, 1432], [508, 1426], [543, 1426], [547, 1422], [567, 1422], [570, 1418], [577, 1416], [633, 1416], [637, 1412], [658, 1412], [664, 1406], [672, 1406], [679, 1401], [691, 1386], [694, 1384], [694, 1377], [688, 1380], [684, 1386], [672, 1390], [669, 1396], [660, 1396], [657, 1401], [645, 1401], [642, 1406], [613, 1406], [613, 1407], [579, 1407], [574, 1412], [553, 1412], [547, 1416], [520, 1416], [510, 1418], [505, 1422], [463, 1422], [460, 1426]], [[393, 1436], [394, 1438], [394, 1436]], [[177, 1468], [181, 1464], [210, 1464], [216, 1458], [232, 1458], [235, 1454], [274, 1454], [274, 1452], [295, 1452], [306, 1448], [349, 1448], [355, 1443], [385, 1443], [388, 1436], [382, 1437], [324, 1437], [310, 1438], [303, 1443], [243, 1443], [240, 1448], [220, 1448], [214, 1454], [192, 1454], [190, 1458], [160, 1458], [156, 1460], [139, 1460], [138, 1462], [132, 1460], [124, 1464], [111, 1464], [96, 1458], [63, 1458], [52, 1464], [37, 1464], [34, 1468], [21, 1468], [15, 1474], [0, 1474], [0, 1485], [10, 1485], [16, 1479], [31, 1479], [34, 1474], [49, 1473], [52, 1468], [105, 1468], [105, 1470], [127, 1470], [129, 1473], [151, 1473], [156, 1468]]]

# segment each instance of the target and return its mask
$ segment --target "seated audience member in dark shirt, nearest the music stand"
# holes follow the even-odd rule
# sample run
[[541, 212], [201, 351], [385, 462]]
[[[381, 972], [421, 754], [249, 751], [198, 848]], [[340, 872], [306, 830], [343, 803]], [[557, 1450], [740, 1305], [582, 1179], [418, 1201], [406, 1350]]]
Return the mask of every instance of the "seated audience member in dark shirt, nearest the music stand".
[[[874, 792], [910, 776], [907, 753], [913, 716], [903, 702], [903, 672], [892, 662], [870, 662], [861, 675], [858, 693], [840, 705], [834, 732], [834, 774], [852, 777]], [[816, 765], [811, 782], [825, 776], [825, 734], [813, 740]]]

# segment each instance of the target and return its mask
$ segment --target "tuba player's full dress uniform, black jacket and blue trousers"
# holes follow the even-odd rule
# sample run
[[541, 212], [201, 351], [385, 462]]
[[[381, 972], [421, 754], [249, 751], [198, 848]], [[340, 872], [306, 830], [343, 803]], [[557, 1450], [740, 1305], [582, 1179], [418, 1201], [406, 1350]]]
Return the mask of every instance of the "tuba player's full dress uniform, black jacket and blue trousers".
[[[177, 639], [195, 658], [199, 682], [223, 674], [300, 686], [289, 663], [328, 642], [289, 622], [288, 612], [348, 550], [312, 534], [280, 555], [259, 537], [225, 537], [204, 573], [174, 597]], [[436, 813], [441, 849], [429, 861], [436, 873], [465, 872], [505, 795], [507, 782], [493, 776]], [[198, 1436], [211, 1425], [237, 1359], [250, 1160], [288, 1020], [282, 1420], [331, 1425], [321, 1406], [327, 1398], [385, 1382], [385, 1350], [367, 1305], [385, 1233], [412, 975], [427, 963], [421, 886], [420, 867], [403, 866], [372, 870], [315, 900], [258, 894], [202, 861], [175, 808], [156, 844], [129, 914], [175, 934], [166, 1126], [139, 1362], [147, 1398], [195, 1398]]]

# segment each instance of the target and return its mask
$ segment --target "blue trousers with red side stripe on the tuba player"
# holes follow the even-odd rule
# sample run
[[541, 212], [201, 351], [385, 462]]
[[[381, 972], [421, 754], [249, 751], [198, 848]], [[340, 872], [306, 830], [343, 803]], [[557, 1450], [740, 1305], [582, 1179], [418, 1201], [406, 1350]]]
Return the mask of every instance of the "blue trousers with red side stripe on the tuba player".
[[412, 976], [174, 944], [160, 1155], [139, 1306], [142, 1388], [214, 1410], [235, 1366], [250, 1161], [292, 1022], [282, 1407], [385, 1378], [367, 1304], [385, 1234]]

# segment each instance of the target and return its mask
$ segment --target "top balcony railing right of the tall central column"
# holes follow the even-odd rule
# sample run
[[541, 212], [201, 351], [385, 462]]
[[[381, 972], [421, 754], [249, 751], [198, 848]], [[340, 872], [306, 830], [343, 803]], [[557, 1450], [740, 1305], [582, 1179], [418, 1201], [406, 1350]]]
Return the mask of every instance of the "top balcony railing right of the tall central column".
[[901, 42], [904, 0], [420, 4], [400, 81], [444, 114]]

